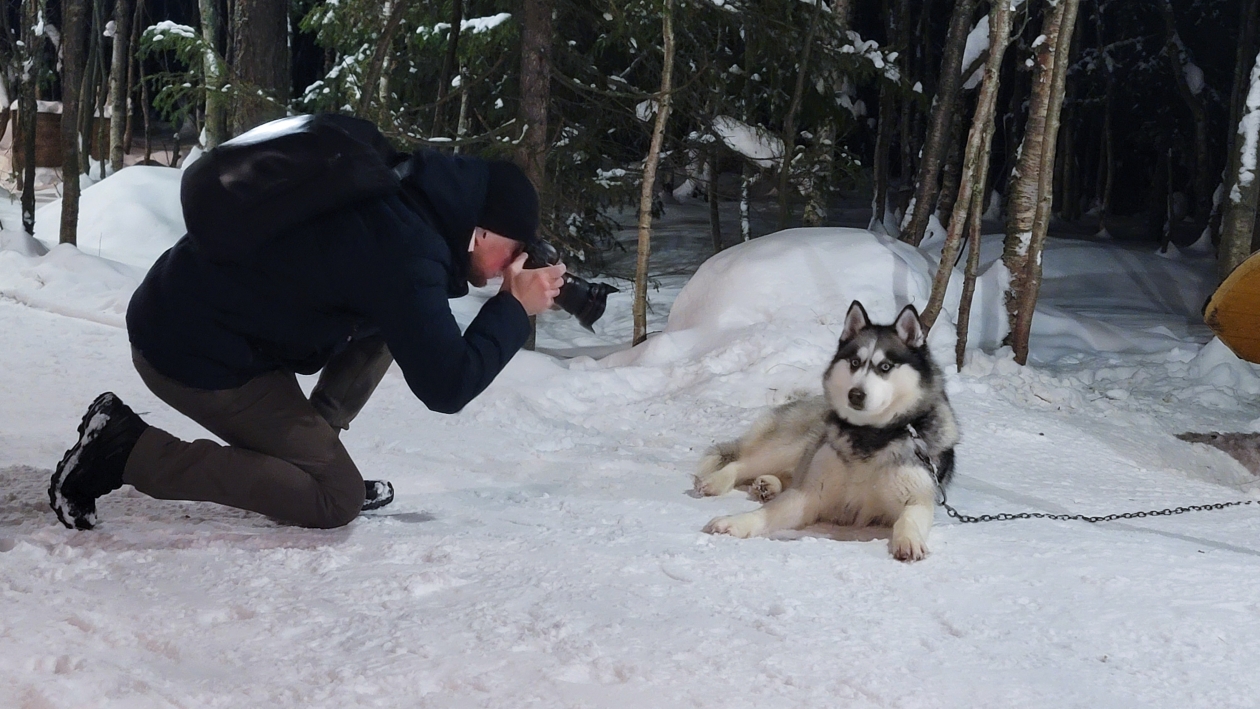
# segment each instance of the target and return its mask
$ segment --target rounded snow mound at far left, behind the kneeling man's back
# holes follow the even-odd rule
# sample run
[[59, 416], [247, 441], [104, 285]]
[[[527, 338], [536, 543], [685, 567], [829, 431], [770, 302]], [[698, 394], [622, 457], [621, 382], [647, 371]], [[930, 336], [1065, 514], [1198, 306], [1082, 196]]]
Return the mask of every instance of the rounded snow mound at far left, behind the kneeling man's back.
[[[83, 253], [147, 269], [184, 235], [179, 205], [183, 173], [132, 165], [83, 190], [79, 196], [78, 248]], [[60, 242], [62, 200], [35, 210], [35, 238]]]

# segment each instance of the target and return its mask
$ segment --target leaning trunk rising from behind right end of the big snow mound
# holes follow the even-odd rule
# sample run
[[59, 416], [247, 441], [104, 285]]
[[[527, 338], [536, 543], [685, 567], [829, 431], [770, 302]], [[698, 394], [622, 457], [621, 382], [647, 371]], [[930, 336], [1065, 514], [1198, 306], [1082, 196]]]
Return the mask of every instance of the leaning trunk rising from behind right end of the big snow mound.
[[946, 139], [958, 105], [959, 87], [963, 83], [963, 50], [966, 48], [966, 35], [971, 26], [971, 10], [975, 0], [956, 0], [954, 15], [950, 18], [949, 37], [945, 40], [945, 55], [941, 58], [941, 74], [936, 101], [932, 103], [932, 118], [924, 144], [924, 156], [919, 161], [919, 174], [915, 185], [915, 210], [910, 224], [901, 234], [901, 241], [919, 246], [924, 241], [927, 220], [936, 208], [936, 195], [940, 190], [941, 160], [945, 157]]

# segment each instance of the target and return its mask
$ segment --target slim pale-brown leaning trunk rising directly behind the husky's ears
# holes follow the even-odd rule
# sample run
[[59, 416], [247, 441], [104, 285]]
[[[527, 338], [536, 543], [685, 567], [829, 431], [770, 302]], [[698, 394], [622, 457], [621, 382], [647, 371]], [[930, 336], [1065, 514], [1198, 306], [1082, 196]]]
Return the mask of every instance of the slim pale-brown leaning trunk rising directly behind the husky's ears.
[[[927, 306], [924, 307], [924, 314], [920, 317], [924, 327], [929, 330], [936, 322], [936, 317], [945, 303], [945, 291], [949, 288], [949, 277], [954, 271], [954, 262], [958, 259], [959, 249], [963, 247], [965, 225], [970, 222], [971, 229], [976, 234], [980, 229], [980, 217], [984, 214], [984, 185], [988, 181], [989, 171], [989, 147], [993, 145], [993, 133], [995, 131], [994, 117], [998, 108], [1002, 59], [1005, 57], [1007, 47], [1011, 45], [1011, 3], [994, 3], [993, 9], [989, 11], [989, 58], [984, 64], [984, 79], [980, 82], [980, 92], [975, 97], [975, 117], [971, 120], [971, 130], [966, 136], [966, 149], [964, 150], [963, 170], [959, 179], [959, 194], [950, 214], [949, 232], [945, 237], [945, 246], [941, 249], [941, 261], [936, 268], [936, 277], [932, 281], [931, 297], [927, 300]], [[979, 239], [979, 235], [976, 235], [976, 239]], [[975, 248], [973, 246], [973, 251]], [[973, 290], [975, 287], [974, 275], [971, 287]], [[959, 327], [965, 334], [965, 330], [961, 330], [961, 322]]]

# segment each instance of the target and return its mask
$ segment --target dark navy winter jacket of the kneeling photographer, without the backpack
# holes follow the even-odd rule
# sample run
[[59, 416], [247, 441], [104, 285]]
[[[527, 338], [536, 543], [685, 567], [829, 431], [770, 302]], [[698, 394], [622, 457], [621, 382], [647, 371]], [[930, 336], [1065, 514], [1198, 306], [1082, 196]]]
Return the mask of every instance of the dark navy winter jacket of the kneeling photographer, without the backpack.
[[467, 293], [485, 162], [420, 152], [398, 193], [321, 214], [252, 253], [212, 258], [185, 234], [158, 258], [127, 309], [131, 343], [158, 372], [199, 389], [262, 373], [320, 370], [357, 335], [381, 332], [412, 392], [455, 413], [529, 334], [507, 293], [461, 334], [447, 298]]

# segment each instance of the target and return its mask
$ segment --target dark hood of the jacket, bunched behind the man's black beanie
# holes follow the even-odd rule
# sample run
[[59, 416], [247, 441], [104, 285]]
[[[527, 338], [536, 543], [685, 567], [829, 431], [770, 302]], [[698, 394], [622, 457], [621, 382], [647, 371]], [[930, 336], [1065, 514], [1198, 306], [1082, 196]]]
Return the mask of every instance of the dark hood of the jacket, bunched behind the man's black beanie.
[[485, 207], [486, 162], [479, 157], [423, 150], [413, 154], [398, 173], [403, 194], [416, 203], [451, 249], [452, 295], [466, 293], [471, 266], [469, 239]]

